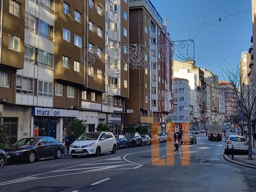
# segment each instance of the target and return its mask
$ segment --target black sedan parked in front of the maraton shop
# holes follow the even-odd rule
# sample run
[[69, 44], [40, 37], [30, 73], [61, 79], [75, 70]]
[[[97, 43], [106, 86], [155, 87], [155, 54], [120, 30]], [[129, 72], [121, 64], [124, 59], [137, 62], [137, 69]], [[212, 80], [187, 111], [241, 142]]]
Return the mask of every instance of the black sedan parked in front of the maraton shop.
[[29, 161], [35, 162], [37, 159], [54, 157], [60, 159], [65, 152], [65, 145], [50, 136], [39, 136], [23, 138], [12, 147], [3, 148], [8, 161]]

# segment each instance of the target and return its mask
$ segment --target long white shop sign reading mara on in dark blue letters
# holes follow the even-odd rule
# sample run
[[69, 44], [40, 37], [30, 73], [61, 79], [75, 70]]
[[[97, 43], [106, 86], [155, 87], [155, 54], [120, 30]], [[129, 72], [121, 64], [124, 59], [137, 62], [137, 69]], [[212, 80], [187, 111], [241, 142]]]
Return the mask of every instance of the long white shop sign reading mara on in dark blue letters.
[[79, 111], [67, 109], [52, 109], [52, 108], [33, 108], [33, 116], [67, 116], [77, 117]]

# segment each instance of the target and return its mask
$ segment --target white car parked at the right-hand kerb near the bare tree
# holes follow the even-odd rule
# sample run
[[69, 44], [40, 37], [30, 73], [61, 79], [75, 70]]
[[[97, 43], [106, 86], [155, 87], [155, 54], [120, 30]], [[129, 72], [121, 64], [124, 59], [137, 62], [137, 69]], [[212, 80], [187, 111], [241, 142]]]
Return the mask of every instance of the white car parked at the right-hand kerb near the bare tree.
[[249, 143], [244, 136], [230, 135], [227, 141], [225, 141], [225, 154], [232, 150], [234, 146], [234, 152], [249, 152]]

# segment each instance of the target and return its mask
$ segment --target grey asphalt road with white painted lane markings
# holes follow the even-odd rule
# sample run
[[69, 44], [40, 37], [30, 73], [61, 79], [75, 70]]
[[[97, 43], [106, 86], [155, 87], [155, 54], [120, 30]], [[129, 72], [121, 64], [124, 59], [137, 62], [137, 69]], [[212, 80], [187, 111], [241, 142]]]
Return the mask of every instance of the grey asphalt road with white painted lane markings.
[[161, 143], [114, 155], [7, 164], [0, 191], [255, 191], [255, 170], [225, 162], [223, 141], [196, 138], [197, 144], [177, 151], [173, 143]]

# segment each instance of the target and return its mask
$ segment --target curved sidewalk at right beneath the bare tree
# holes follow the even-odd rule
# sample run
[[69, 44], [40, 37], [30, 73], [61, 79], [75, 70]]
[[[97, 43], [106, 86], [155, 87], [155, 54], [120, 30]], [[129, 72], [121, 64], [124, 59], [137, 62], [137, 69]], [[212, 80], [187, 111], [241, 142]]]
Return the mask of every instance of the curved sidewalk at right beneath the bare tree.
[[238, 164], [240, 166], [245, 166], [247, 168], [256, 169], [256, 147], [253, 148], [253, 145], [252, 145], [252, 160], [248, 159], [248, 155], [242, 155], [242, 156], [234, 155], [234, 160], [232, 160], [231, 154], [229, 154], [228, 156], [223, 154], [223, 158], [230, 163]]

